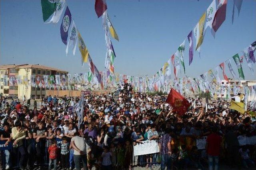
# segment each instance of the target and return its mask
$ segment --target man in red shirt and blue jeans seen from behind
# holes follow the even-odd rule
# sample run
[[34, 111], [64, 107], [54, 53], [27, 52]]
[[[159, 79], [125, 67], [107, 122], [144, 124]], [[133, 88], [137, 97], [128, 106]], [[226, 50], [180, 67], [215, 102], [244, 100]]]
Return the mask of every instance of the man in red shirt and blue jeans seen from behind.
[[206, 139], [206, 152], [208, 154], [209, 170], [218, 170], [221, 137], [217, 134], [217, 128], [212, 128], [212, 133]]

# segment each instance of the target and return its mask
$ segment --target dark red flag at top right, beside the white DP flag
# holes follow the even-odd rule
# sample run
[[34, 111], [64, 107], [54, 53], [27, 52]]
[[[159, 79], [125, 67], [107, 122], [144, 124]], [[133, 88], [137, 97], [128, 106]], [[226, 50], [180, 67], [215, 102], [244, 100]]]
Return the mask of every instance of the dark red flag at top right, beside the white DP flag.
[[226, 19], [227, 0], [218, 0], [217, 11], [212, 21], [212, 28], [216, 32]]

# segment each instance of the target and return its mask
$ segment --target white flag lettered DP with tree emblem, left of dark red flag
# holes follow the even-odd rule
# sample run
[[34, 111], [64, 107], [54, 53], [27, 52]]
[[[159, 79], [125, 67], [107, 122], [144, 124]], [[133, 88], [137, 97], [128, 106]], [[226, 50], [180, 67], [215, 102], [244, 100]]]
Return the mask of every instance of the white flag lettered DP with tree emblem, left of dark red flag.
[[215, 13], [216, 13], [216, 2], [215, 2], [215, 0], [213, 0], [212, 3], [210, 4], [210, 6], [207, 8], [207, 11], [206, 11], [206, 24], [205, 24], [205, 27], [204, 27], [204, 33], [205, 33], [206, 29], [208, 27], [210, 27], [212, 35], [214, 37], [215, 37], [215, 31], [212, 29], [212, 22], [213, 22]]

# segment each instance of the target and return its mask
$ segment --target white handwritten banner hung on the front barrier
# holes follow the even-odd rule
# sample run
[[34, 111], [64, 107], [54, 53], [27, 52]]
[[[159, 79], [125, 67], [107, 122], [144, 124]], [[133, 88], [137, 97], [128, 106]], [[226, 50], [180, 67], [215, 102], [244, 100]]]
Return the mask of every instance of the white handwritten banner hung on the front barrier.
[[142, 143], [133, 146], [134, 156], [143, 154], [152, 154], [159, 152], [158, 143], [154, 140], [152, 141], [142, 141]]

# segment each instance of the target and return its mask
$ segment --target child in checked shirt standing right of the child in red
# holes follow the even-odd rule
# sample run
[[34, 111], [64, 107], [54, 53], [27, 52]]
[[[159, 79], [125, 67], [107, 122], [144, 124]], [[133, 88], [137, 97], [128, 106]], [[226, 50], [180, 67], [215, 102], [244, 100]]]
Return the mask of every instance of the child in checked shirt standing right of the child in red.
[[69, 145], [68, 145], [68, 137], [62, 137], [61, 143], [61, 163], [62, 169], [66, 170], [69, 168]]

